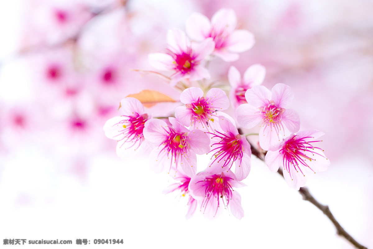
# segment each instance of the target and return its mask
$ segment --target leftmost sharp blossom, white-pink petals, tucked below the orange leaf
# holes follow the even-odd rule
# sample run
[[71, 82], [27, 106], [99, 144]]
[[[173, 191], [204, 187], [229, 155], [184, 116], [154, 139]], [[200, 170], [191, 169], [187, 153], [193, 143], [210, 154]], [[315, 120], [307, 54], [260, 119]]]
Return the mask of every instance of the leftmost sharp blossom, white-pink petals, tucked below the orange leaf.
[[[126, 158], [133, 156], [134, 152], [144, 142], [144, 124], [148, 114], [144, 113], [144, 106], [138, 99], [127, 97], [120, 102], [120, 111], [123, 115], [106, 121], [104, 125], [105, 136], [117, 140], [117, 155]], [[146, 145], [143, 145], [146, 146]]]

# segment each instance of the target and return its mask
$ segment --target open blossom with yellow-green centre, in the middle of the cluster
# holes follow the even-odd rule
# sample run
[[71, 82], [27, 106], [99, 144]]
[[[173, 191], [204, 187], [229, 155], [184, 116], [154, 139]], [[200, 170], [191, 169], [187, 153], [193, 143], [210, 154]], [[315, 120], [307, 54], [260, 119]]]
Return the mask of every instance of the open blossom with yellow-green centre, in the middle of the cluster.
[[190, 87], [180, 95], [180, 101], [185, 106], [175, 109], [175, 116], [185, 126], [193, 125], [196, 129], [209, 130], [214, 120], [218, 118], [216, 111], [229, 107], [229, 99], [219, 88], [211, 88], [203, 97], [201, 88]]

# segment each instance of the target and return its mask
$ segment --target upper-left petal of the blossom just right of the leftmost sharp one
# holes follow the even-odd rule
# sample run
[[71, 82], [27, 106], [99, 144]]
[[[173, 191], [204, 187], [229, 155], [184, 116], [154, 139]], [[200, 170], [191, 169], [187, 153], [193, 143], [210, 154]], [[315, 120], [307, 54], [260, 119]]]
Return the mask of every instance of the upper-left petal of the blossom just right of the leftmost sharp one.
[[157, 118], [149, 119], [144, 124], [142, 134], [144, 134], [145, 139], [150, 143], [159, 145], [163, 143], [168, 136], [168, 133], [162, 127], [167, 127], [166, 122], [163, 120]]

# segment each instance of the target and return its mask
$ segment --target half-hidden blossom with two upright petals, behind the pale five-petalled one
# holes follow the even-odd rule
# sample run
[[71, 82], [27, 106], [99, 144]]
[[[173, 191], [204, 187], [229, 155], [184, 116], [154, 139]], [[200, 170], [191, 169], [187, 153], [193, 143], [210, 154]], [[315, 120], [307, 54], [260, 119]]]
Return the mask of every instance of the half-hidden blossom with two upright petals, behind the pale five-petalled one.
[[231, 66], [228, 71], [228, 80], [231, 84], [231, 91], [229, 92], [229, 99], [233, 103], [233, 106], [237, 108], [241, 104], [247, 103], [245, 99], [245, 93], [248, 89], [254, 85], [260, 85], [264, 76], [266, 75], [266, 68], [260, 64], [250, 66], [244, 73], [244, 78], [241, 80], [241, 74], [235, 68]]

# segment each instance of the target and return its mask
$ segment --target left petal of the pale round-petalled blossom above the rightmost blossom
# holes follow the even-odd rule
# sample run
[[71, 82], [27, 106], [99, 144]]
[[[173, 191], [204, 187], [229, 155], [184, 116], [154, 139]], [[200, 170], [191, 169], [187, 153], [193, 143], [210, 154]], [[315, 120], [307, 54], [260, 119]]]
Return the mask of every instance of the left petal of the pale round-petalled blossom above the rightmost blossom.
[[258, 109], [249, 104], [238, 106], [236, 115], [238, 124], [248, 129], [253, 128], [262, 120]]

